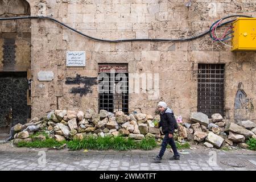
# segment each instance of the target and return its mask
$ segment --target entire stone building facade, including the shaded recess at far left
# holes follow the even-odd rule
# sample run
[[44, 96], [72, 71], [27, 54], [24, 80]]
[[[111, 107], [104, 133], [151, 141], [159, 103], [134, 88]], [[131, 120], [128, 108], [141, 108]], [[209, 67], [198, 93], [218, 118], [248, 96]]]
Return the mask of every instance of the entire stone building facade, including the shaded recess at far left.
[[[83, 34], [108, 40], [189, 38], [209, 30], [213, 22], [228, 15], [256, 16], [253, 0], [192, 0], [191, 6], [186, 3], [183, 0], [0, 0], [0, 16], [49, 16]], [[231, 24], [220, 31], [227, 26]], [[5, 46], [9, 39], [15, 40], [11, 57], [15, 61], [7, 69]], [[67, 51], [84, 51], [85, 66], [67, 67]], [[125, 98], [127, 112], [154, 115], [156, 104], [166, 101], [176, 115], [188, 121], [191, 112], [200, 111], [199, 105], [205, 107], [206, 101], [199, 96], [206, 91], [205, 96], [211, 96], [211, 105], [215, 106], [208, 108], [210, 113], [222, 110], [230, 121], [256, 122], [253, 107], [256, 106], [256, 53], [232, 52], [230, 47], [210, 39], [209, 34], [184, 42], [110, 43], [86, 38], [49, 19], [1, 20], [0, 60], [2, 77], [6, 72], [27, 73], [26, 97], [31, 118], [54, 109], [98, 111], [102, 100], [97, 77], [103, 64], [110, 68], [123, 66], [126, 69], [123, 72], [129, 75], [130, 88], [136, 82], [134, 75], [142, 80], [143, 76], [150, 77], [146, 88], [144, 80], [139, 92], [129, 90]], [[199, 68], [200, 71], [209, 68], [212, 78], [217, 78], [214, 90], [199, 84], [198, 77], [205, 73]], [[218, 79], [216, 75], [221, 75], [221, 70], [223, 79]], [[39, 72], [53, 77], [40, 80]], [[150, 80], [155, 81], [154, 86], [147, 87]], [[124, 102], [124, 97], [116, 97]], [[113, 96], [104, 102], [110, 100], [113, 104], [108, 107], [118, 102]]]

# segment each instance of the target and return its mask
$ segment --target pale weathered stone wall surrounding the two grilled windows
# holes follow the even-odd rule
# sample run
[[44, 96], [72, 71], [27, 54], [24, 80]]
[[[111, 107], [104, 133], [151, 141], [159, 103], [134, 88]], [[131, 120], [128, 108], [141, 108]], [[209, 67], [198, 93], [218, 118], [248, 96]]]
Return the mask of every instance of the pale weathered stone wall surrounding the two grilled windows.
[[[72, 28], [96, 38], [184, 38], [208, 30], [217, 19], [232, 14], [253, 15], [255, 2], [113, 0], [113, 1], [28, 1], [31, 15], [52, 16]], [[239, 82], [247, 97], [254, 98], [255, 52], [231, 52], [229, 47], [212, 42], [209, 35], [188, 42], [102, 43], [84, 38], [49, 20], [31, 20], [32, 26], [32, 117], [52, 109], [98, 110], [97, 85], [92, 92], [70, 93], [83, 84], [65, 84], [67, 77], [97, 77], [98, 63], [127, 63], [129, 73], [159, 73], [159, 97], [129, 94], [129, 110], [154, 114], [164, 100], [175, 114], [189, 118], [197, 110], [197, 64], [225, 64], [225, 111], [234, 119], [234, 100]], [[84, 68], [65, 66], [66, 51], [86, 51]], [[38, 81], [39, 71], [53, 71], [52, 81]], [[252, 100], [256, 105], [255, 100]], [[243, 109], [246, 111], [246, 109]], [[256, 110], [246, 116], [256, 121]]]

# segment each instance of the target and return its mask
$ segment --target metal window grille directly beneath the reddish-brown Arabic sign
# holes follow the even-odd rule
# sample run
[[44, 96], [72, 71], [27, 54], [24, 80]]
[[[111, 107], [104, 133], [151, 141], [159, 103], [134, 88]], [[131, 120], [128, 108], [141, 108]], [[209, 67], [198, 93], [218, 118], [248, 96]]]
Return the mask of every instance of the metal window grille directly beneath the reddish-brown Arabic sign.
[[[99, 82], [99, 109], [109, 112], [123, 111], [128, 113], [129, 81], [128, 73], [100, 72]], [[104, 85], [104, 86], [102, 86]]]

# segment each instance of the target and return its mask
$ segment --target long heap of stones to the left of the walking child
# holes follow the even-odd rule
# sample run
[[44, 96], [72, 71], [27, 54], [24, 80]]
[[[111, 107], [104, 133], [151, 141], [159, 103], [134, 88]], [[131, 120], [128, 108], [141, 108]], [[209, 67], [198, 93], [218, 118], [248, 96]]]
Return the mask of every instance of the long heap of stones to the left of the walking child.
[[50, 137], [57, 141], [70, 139], [83, 139], [86, 135], [117, 136], [121, 135], [133, 139], [160, 138], [160, 129], [155, 127], [153, 119], [159, 122], [159, 115], [153, 118], [151, 115], [138, 113], [126, 115], [122, 111], [114, 114], [106, 110], [95, 113], [92, 109], [83, 111], [54, 110], [47, 117], [34, 118], [25, 125], [14, 126], [14, 143], [20, 141], [46, 139], [44, 136], [30, 138], [30, 135], [38, 130], [44, 130]]

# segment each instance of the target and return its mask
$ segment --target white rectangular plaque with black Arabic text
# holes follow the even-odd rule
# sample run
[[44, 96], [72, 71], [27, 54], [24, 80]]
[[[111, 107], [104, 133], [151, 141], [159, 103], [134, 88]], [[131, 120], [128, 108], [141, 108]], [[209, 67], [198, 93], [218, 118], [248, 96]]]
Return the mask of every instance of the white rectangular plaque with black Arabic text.
[[67, 67], [85, 67], [85, 51], [67, 51]]

